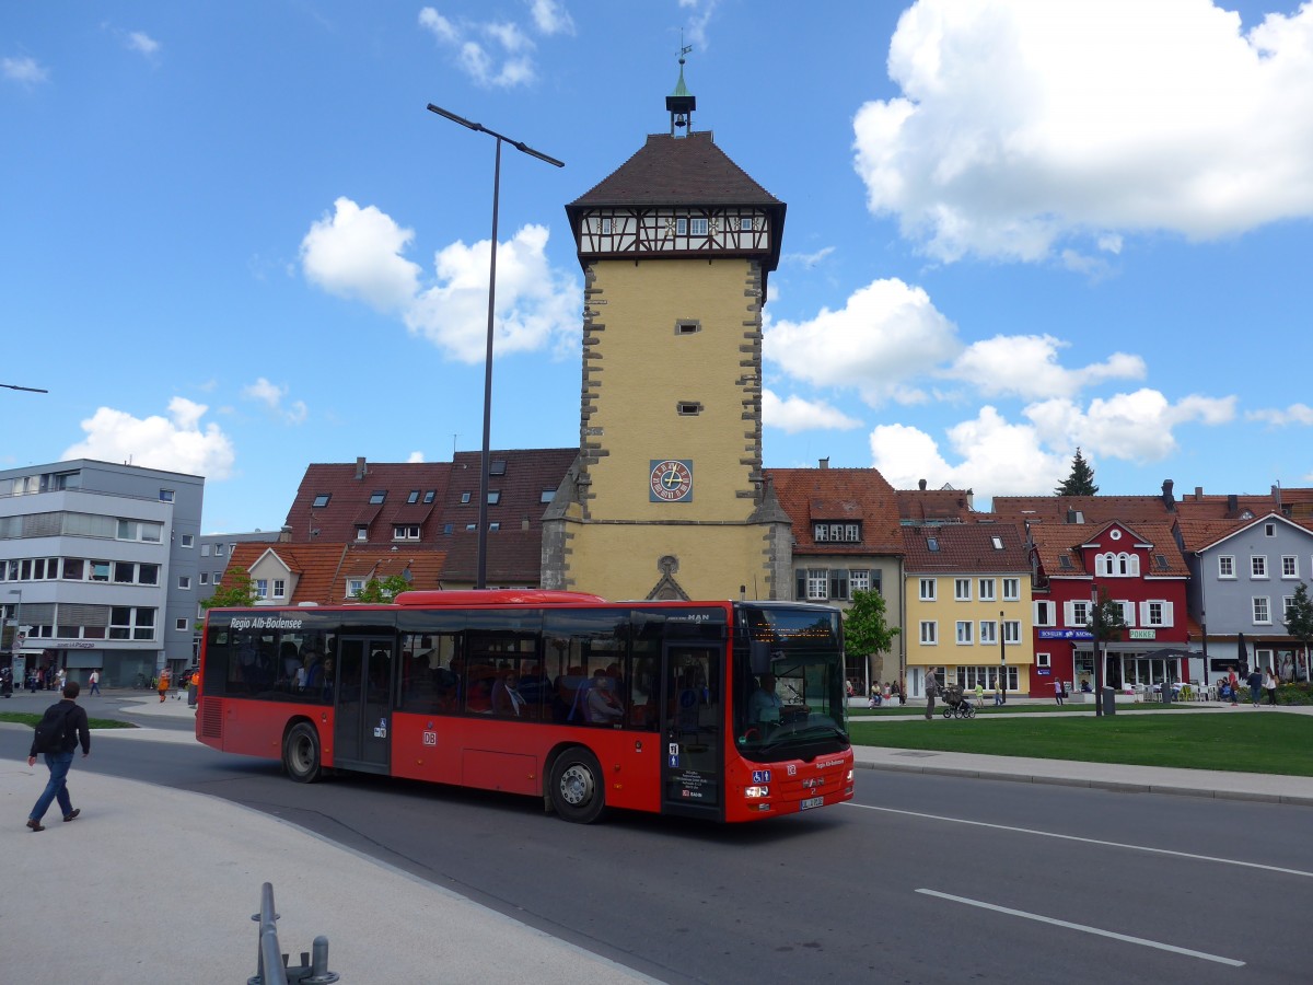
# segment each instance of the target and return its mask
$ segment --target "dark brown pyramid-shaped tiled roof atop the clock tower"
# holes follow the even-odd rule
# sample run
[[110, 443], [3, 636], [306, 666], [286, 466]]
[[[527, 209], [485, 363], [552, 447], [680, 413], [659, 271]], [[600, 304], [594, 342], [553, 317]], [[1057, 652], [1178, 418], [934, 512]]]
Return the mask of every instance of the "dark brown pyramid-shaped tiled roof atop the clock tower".
[[650, 134], [638, 152], [566, 206], [781, 205], [730, 160], [710, 131]]

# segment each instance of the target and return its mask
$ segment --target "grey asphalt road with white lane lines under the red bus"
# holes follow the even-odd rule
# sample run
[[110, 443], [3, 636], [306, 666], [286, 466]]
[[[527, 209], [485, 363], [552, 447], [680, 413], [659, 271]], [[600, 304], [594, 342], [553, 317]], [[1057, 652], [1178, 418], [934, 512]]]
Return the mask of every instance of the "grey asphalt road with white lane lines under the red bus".
[[[25, 743], [0, 730], [4, 755]], [[1310, 978], [1308, 808], [861, 771], [810, 816], [586, 827], [179, 743], [105, 739], [81, 768], [277, 814], [670, 982]]]

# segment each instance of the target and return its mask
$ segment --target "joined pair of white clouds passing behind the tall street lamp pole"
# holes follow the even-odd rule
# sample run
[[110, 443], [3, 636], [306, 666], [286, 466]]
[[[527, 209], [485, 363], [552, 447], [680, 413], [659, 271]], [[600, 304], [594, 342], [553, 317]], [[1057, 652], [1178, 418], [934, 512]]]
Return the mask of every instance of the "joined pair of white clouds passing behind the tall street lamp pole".
[[[336, 211], [315, 222], [301, 244], [306, 278], [340, 297], [360, 298], [395, 314], [452, 359], [478, 362], [487, 347], [488, 251], [491, 240], [457, 242], [435, 256], [435, 278], [402, 256], [414, 231], [374, 206], [339, 198]], [[578, 280], [548, 263], [549, 232], [525, 226], [498, 244], [496, 353], [551, 349], [574, 340], [583, 307]]]

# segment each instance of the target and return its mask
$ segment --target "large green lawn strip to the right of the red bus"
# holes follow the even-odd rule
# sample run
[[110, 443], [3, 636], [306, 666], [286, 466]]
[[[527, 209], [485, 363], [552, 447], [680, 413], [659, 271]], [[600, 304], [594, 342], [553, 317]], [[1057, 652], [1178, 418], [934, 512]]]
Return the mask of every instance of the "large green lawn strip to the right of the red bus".
[[[924, 712], [922, 712], [924, 714]], [[1313, 776], [1313, 716], [1140, 714], [1095, 718], [848, 722], [853, 743], [941, 753], [1074, 759]]]

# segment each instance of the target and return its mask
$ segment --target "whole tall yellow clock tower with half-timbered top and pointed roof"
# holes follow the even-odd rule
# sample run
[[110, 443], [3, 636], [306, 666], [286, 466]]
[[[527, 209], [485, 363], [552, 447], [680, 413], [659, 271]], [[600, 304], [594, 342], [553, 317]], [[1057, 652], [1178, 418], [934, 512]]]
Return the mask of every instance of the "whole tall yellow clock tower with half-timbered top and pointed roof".
[[789, 521], [762, 474], [762, 306], [785, 206], [692, 131], [683, 68], [666, 104], [670, 134], [566, 206], [584, 271], [579, 458], [544, 517], [542, 586], [790, 598]]

